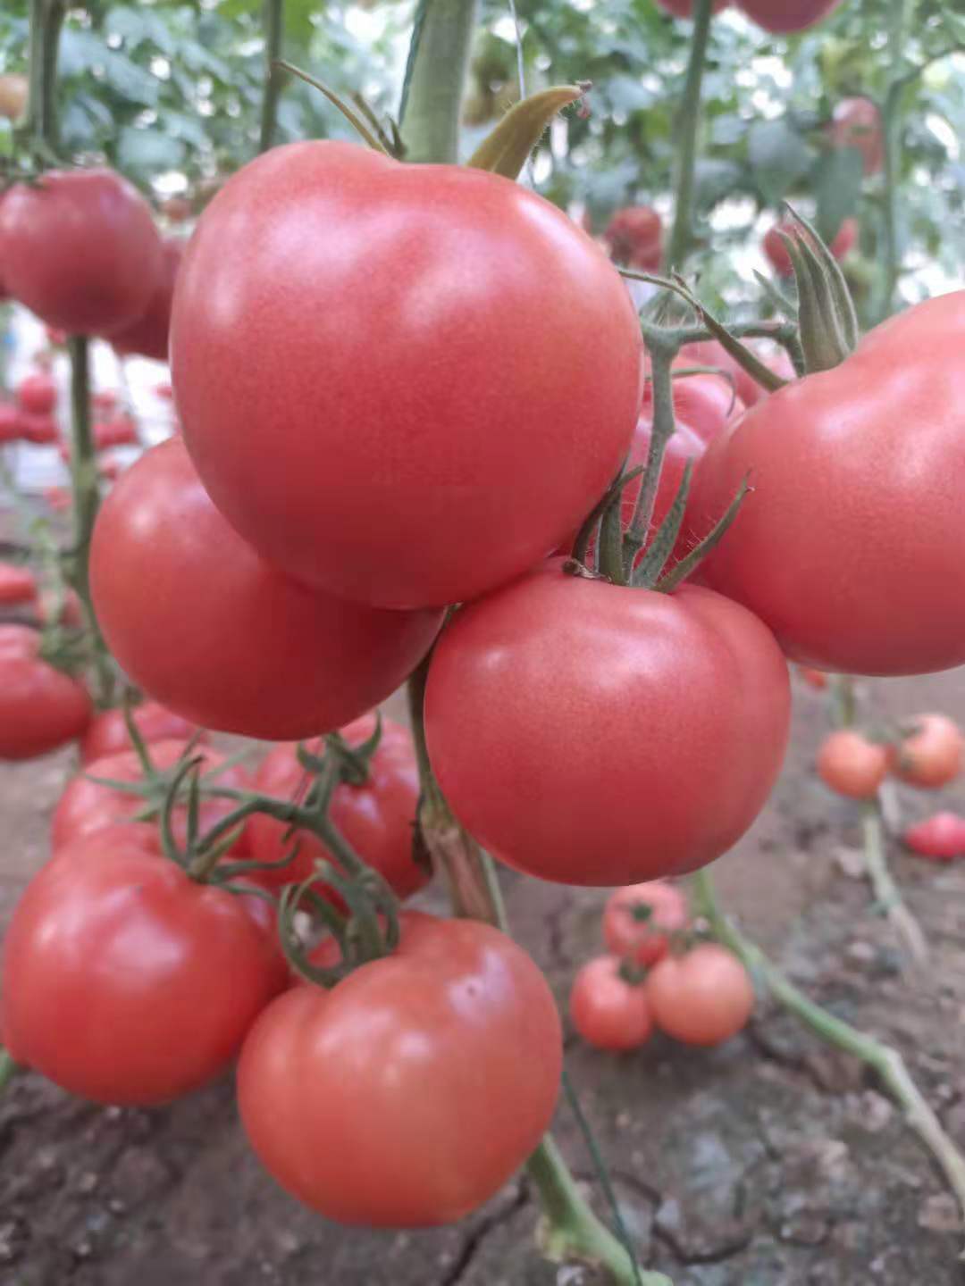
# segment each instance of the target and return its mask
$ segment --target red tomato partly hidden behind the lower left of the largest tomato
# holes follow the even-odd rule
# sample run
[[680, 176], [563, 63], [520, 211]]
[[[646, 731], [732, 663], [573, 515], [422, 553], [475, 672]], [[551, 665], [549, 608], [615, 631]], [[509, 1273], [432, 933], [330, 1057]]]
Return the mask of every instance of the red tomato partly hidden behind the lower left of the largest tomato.
[[310, 737], [385, 700], [439, 611], [390, 612], [308, 589], [221, 517], [180, 439], [147, 451], [94, 529], [98, 619], [135, 683], [205, 728]]

